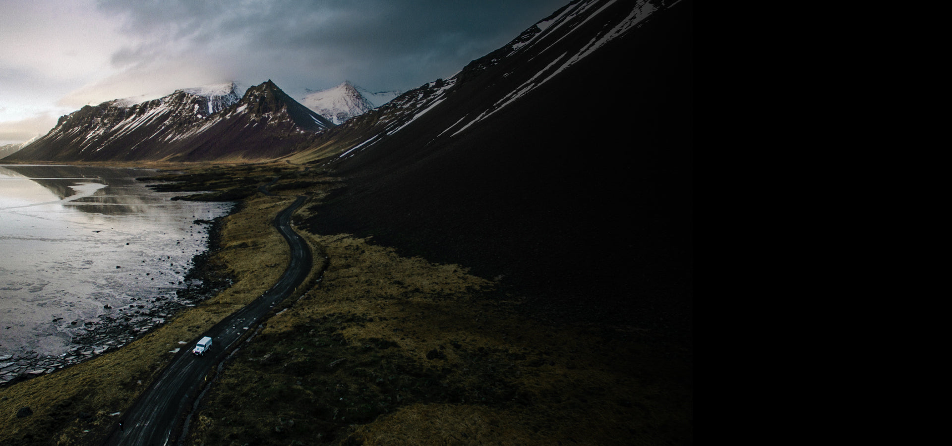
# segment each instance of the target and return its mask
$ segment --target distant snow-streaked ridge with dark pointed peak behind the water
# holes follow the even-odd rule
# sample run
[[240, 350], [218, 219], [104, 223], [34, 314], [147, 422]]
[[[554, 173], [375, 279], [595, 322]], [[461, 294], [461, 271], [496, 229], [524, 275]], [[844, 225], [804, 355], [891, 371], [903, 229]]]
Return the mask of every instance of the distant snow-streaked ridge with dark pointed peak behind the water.
[[334, 126], [268, 81], [184, 88], [135, 103], [113, 100], [59, 119], [13, 154], [18, 161], [193, 161], [281, 156]]

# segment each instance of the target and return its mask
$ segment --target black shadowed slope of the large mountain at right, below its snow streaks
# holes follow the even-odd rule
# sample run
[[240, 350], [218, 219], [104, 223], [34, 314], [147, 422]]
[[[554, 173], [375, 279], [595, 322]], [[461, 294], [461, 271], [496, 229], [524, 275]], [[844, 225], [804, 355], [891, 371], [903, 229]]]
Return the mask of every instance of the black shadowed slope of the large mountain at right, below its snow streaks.
[[[656, 13], [513, 105], [442, 137], [548, 63], [474, 61], [440, 107], [334, 164], [348, 185], [310, 223], [503, 276], [509, 290], [555, 307], [688, 326], [692, 14], [689, 1]], [[572, 39], [590, 36], [558, 45]]]

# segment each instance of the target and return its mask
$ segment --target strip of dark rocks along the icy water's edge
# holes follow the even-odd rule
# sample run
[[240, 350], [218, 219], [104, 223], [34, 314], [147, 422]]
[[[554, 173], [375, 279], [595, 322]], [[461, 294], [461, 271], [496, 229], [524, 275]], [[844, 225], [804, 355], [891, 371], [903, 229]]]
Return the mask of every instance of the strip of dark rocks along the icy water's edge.
[[70, 334], [70, 342], [75, 345], [60, 356], [41, 356], [35, 351], [0, 356], [0, 387], [47, 375], [127, 345], [174, 318], [182, 309], [194, 306], [228, 287], [233, 278], [216, 271], [208, 264], [211, 253], [220, 249], [219, 231], [222, 218], [224, 217], [210, 222], [195, 221], [211, 224], [208, 229], [208, 249], [192, 257], [192, 267], [185, 276], [186, 286], [178, 289], [175, 297], [133, 298], [132, 303], [121, 308], [113, 308], [107, 304], [104, 308], [116, 311], [101, 315], [97, 320], [69, 322], [76, 328], [71, 330]]

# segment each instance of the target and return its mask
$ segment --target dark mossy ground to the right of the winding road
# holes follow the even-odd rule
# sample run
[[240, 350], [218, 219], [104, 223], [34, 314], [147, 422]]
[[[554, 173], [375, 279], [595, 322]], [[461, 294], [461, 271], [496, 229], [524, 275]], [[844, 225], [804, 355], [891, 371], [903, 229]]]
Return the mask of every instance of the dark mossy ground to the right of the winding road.
[[686, 444], [690, 358], [528, 319], [457, 265], [317, 236], [324, 280], [229, 362], [193, 444]]

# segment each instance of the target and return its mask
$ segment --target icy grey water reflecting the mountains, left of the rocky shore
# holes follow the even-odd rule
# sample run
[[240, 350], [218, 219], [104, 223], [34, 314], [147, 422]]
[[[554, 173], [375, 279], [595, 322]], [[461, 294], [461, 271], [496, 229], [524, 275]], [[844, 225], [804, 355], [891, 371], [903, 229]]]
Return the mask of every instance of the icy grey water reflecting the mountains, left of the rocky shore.
[[208, 248], [205, 221], [232, 204], [172, 201], [135, 180], [151, 173], [0, 165], [0, 381], [117, 347], [188, 304], [175, 292]]

